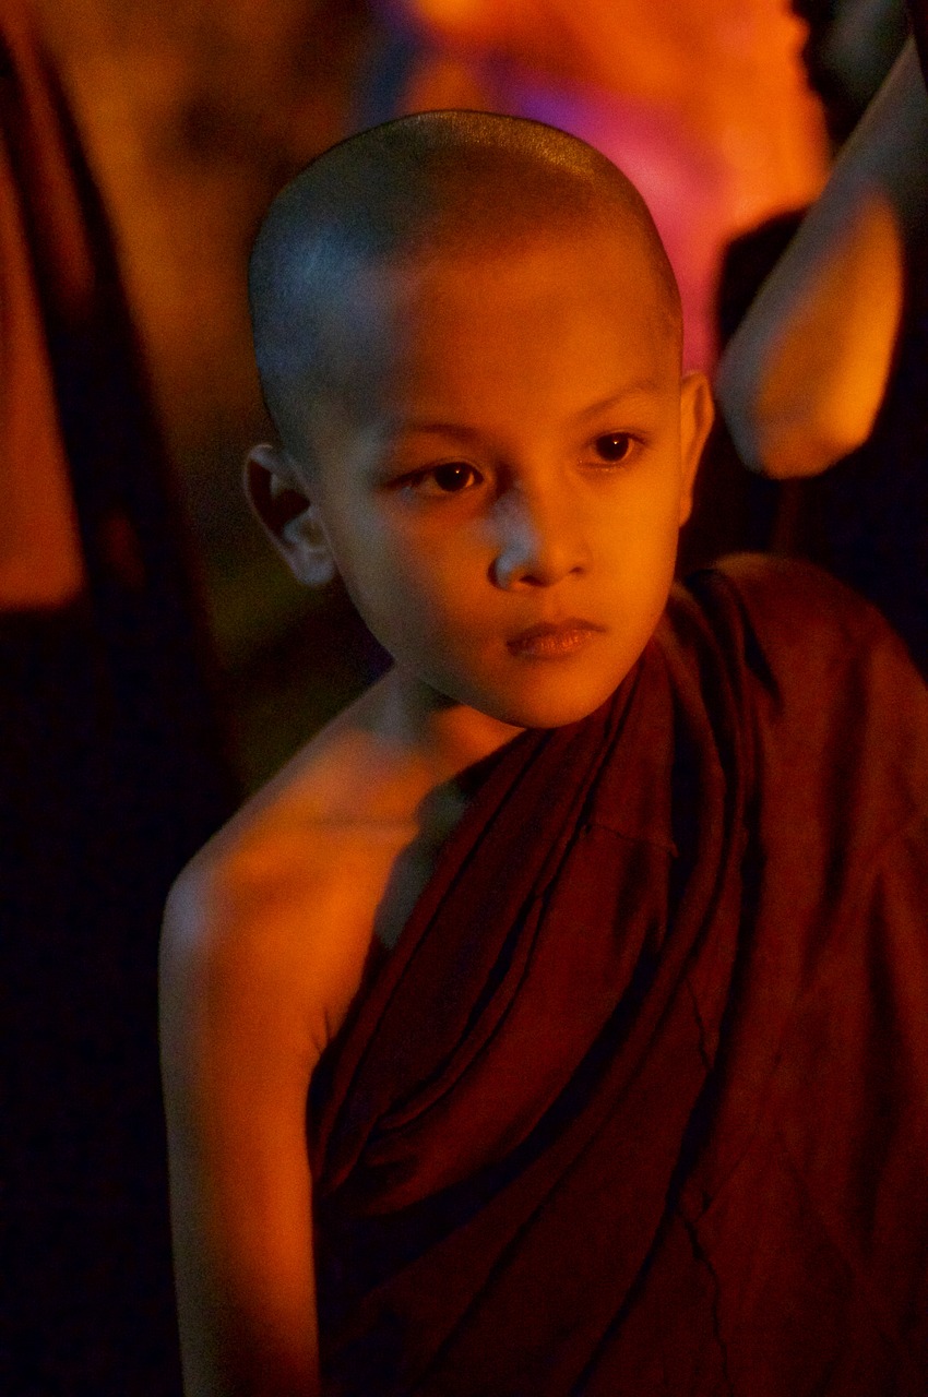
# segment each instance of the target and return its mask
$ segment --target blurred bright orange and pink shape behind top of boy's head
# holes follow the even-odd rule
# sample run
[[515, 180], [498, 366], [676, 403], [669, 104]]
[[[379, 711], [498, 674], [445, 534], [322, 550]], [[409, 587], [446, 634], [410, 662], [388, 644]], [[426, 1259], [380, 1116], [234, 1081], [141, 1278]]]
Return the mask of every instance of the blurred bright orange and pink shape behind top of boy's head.
[[549, 122], [604, 151], [641, 190], [669, 253], [686, 363], [711, 365], [725, 244], [809, 203], [826, 172], [822, 112], [799, 63], [805, 27], [785, 0], [380, 8], [400, 38], [391, 80], [382, 73], [363, 116], [471, 106]]

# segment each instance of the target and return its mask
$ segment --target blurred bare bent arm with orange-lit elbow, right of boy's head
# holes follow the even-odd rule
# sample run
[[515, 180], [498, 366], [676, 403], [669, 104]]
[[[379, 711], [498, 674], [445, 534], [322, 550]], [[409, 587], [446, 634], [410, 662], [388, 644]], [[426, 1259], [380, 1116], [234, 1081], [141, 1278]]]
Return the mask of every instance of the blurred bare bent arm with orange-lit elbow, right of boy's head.
[[732, 337], [717, 397], [742, 460], [818, 475], [869, 436], [928, 214], [928, 95], [907, 43]]

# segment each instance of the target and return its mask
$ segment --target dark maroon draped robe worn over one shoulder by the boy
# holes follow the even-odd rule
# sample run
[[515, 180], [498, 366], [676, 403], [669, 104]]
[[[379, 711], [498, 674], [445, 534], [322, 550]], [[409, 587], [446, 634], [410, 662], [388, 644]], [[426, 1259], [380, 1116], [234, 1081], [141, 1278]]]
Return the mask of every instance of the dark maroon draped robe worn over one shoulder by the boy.
[[741, 557], [491, 764], [309, 1102], [324, 1391], [928, 1386], [928, 693]]

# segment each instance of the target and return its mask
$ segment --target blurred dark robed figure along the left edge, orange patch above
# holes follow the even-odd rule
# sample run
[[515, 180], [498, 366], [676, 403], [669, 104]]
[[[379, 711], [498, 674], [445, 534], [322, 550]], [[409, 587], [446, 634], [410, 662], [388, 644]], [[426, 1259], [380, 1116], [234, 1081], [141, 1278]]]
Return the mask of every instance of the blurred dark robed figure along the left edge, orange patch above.
[[106, 219], [0, 3], [0, 974], [18, 1397], [179, 1391], [161, 909], [232, 788]]

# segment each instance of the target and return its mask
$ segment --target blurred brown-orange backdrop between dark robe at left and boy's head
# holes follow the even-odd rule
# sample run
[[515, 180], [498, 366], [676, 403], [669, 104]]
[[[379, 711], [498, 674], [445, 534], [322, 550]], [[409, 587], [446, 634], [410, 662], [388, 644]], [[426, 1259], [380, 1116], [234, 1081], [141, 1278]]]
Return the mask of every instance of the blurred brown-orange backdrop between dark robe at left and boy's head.
[[[232, 759], [253, 789], [354, 693], [366, 659], [349, 610], [302, 594], [247, 513], [245, 453], [268, 426], [245, 267], [271, 197], [351, 127], [377, 27], [362, 0], [41, 0], [36, 11], [113, 225]], [[324, 676], [305, 682], [319, 648]]]

